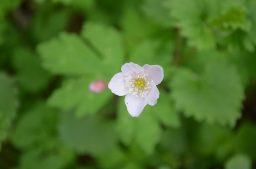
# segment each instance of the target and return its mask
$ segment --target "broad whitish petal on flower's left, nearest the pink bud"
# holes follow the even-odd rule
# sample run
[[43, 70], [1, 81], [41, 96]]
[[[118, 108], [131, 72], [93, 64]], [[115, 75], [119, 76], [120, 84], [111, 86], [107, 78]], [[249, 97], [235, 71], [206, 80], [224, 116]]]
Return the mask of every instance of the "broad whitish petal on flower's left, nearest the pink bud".
[[[110, 82], [108, 83], [108, 88], [111, 89], [111, 92], [118, 95], [124, 96], [129, 92], [130, 84], [127, 84], [126, 81], [129, 80], [122, 72], [115, 74]], [[127, 84], [127, 86], [125, 86]]]

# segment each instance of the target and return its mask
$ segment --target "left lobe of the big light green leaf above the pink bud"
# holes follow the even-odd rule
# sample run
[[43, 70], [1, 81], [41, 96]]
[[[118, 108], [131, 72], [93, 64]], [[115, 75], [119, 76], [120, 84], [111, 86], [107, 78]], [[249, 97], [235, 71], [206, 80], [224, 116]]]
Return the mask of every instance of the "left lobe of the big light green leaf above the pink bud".
[[54, 74], [83, 75], [100, 72], [101, 61], [76, 34], [61, 33], [37, 46], [43, 66]]

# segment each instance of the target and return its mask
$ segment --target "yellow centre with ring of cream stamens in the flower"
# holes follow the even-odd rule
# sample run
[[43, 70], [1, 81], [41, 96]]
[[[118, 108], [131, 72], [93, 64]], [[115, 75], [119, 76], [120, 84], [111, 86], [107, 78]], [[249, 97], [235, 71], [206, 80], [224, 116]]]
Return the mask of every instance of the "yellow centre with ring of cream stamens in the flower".
[[136, 74], [137, 75], [134, 77], [129, 76], [129, 78], [131, 77], [131, 81], [127, 80], [126, 82], [131, 85], [128, 93], [131, 93], [133, 90], [135, 90], [132, 94], [136, 95], [137, 97], [140, 95], [140, 97], [143, 98], [145, 97], [145, 94], [148, 93], [148, 89], [150, 89], [150, 86], [148, 86], [149, 82], [146, 79], [148, 74], [144, 74], [143, 76], [138, 75], [138, 72]]

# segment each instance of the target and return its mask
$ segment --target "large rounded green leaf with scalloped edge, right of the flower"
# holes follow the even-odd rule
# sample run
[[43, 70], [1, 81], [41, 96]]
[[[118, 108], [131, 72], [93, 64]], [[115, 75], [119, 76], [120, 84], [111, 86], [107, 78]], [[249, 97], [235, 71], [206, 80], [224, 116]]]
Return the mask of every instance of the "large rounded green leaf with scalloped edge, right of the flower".
[[244, 98], [239, 74], [223, 59], [208, 60], [201, 74], [177, 70], [171, 81], [172, 98], [176, 108], [188, 117], [233, 127], [241, 117]]

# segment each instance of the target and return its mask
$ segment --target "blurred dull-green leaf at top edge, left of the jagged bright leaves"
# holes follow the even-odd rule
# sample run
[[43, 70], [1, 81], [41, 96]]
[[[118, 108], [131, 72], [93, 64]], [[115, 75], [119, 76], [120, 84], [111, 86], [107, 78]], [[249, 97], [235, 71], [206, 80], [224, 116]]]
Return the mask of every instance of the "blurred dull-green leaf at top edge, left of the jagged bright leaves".
[[163, 5], [164, 2], [165, 0], [144, 0], [142, 9], [156, 23], [160, 23], [162, 26], [168, 28], [173, 26], [174, 21], [169, 15], [169, 10]]

